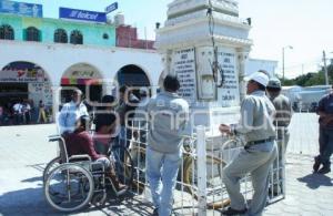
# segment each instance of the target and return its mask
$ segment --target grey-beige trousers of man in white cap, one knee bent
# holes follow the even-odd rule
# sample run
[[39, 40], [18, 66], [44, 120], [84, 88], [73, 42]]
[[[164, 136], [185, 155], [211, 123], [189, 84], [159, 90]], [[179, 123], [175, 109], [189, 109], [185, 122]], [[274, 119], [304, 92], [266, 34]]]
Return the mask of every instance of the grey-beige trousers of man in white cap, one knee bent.
[[249, 216], [260, 216], [266, 205], [269, 172], [273, 161], [278, 156], [275, 142], [253, 145], [242, 150], [240, 154], [223, 169], [223, 182], [225, 184], [231, 207], [244, 209], [245, 199], [240, 192], [240, 179], [251, 173], [254, 194], [249, 206]]

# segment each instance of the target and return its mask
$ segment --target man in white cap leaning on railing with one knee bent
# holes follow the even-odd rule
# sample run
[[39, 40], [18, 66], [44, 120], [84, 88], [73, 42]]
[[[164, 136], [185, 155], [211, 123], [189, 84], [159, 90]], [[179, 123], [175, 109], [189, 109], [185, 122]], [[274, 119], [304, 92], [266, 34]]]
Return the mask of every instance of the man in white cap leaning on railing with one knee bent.
[[[245, 81], [248, 95], [242, 101], [240, 123], [235, 126], [220, 125], [222, 134], [242, 135], [245, 140], [244, 148], [223, 168], [223, 182], [231, 204], [222, 215], [262, 215], [266, 205], [270, 167], [278, 155], [273, 124], [275, 109], [265, 95], [269, 76], [255, 72]], [[251, 174], [254, 188], [250, 206], [246, 206], [240, 192], [240, 179], [248, 173]]]

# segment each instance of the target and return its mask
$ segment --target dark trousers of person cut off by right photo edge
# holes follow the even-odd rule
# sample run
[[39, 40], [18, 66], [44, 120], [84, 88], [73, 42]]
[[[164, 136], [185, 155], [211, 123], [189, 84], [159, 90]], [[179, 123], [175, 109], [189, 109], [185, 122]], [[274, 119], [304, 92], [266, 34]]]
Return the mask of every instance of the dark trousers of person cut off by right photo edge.
[[320, 127], [320, 162], [330, 165], [330, 158], [333, 153], [333, 130]]

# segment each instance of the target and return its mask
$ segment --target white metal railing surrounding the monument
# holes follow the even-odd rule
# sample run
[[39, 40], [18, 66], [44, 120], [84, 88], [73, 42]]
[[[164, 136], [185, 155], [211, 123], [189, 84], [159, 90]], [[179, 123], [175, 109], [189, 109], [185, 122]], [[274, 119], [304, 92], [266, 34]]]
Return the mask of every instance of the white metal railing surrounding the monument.
[[[145, 176], [145, 148], [149, 125], [143, 121], [133, 121], [119, 142], [128, 145], [134, 162], [133, 192], [142, 199], [151, 202], [149, 183]], [[284, 140], [284, 138], [283, 138]], [[268, 204], [285, 196], [284, 141], [280, 142], [279, 157], [270, 172], [270, 192]], [[228, 207], [230, 199], [222, 181], [223, 167], [244, 147], [242, 138], [214, 135], [198, 126], [191, 136], [183, 138], [183, 156], [179, 168], [174, 192], [174, 214], [206, 215], [208, 212], [220, 215], [218, 210]], [[276, 188], [276, 189], [275, 189]], [[241, 193], [245, 200], [253, 195], [250, 174], [241, 179]], [[210, 214], [211, 215], [211, 214]]]

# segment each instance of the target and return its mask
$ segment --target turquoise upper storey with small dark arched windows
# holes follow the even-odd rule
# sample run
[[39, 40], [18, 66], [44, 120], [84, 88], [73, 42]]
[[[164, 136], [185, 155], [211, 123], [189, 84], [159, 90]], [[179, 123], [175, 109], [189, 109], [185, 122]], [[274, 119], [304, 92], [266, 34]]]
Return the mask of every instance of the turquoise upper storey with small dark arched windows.
[[16, 41], [115, 45], [115, 28], [110, 24], [91, 24], [61, 19], [40, 19], [0, 13], [0, 27], [11, 29], [13, 37], [10, 39]]

